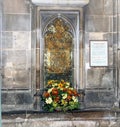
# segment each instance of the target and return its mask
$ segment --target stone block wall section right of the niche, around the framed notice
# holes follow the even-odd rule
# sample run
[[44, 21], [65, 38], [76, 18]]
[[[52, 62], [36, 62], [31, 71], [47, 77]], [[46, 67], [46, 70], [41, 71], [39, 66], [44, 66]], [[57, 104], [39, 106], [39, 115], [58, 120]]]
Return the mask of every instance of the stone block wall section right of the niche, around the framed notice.
[[[116, 101], [115, 0], [90, 0], [85, 14], [85, 104], [87, 108], [110, 108]], [[116, 8], [116, 7], [115, 7]], [[90, 40], [108, 41], [108, 67], [90, 66]]]

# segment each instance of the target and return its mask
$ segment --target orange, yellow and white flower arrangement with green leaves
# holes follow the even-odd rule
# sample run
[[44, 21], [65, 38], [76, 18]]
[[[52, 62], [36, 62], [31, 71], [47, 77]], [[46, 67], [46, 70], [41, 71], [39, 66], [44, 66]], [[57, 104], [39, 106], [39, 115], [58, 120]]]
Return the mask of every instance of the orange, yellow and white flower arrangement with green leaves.
[[64, 80], [49, 80], [42, 94], [45, 111], [68, 111], [79, 108], [79, 94]]

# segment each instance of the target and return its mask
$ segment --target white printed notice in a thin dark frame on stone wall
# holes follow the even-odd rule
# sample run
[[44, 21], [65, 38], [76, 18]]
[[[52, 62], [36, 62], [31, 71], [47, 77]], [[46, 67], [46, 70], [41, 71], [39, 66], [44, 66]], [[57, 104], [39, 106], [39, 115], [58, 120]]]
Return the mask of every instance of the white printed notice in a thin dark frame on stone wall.
[[108, 41], [90, 41], [90, 66], [108, 66]]

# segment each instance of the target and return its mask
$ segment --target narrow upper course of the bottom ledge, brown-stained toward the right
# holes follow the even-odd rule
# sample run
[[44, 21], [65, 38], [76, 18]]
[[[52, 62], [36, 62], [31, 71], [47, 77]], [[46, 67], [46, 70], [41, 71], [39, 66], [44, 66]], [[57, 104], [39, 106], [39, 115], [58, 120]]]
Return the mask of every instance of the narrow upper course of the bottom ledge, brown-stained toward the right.
[[24, 114], [3, 114], [3, 120], [7, 121], [9, 119], [14, 120], [17, 118], [23, 119], [39, 119], [39, 120], [48, 120], [48, 121], [69, 121], [69, 120], [91, 120], [91, 119], [111, 119], [116, 118], [115, 112], [110, 111], [89, 111], [89, 112], [76, 112], [76, 113], [64, 113], [64, 112], [56, 112], [56, 113], [24, 113]]

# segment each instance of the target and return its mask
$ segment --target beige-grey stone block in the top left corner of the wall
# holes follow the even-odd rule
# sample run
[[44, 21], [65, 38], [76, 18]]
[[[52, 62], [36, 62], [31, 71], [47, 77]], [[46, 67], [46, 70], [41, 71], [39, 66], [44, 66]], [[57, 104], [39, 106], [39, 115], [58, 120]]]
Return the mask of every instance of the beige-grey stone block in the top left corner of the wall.
[[5, 13], [29, 13], [30, 9], [26, 0], [12, 0], [12, 2], [3, 0], [3, 11]]

